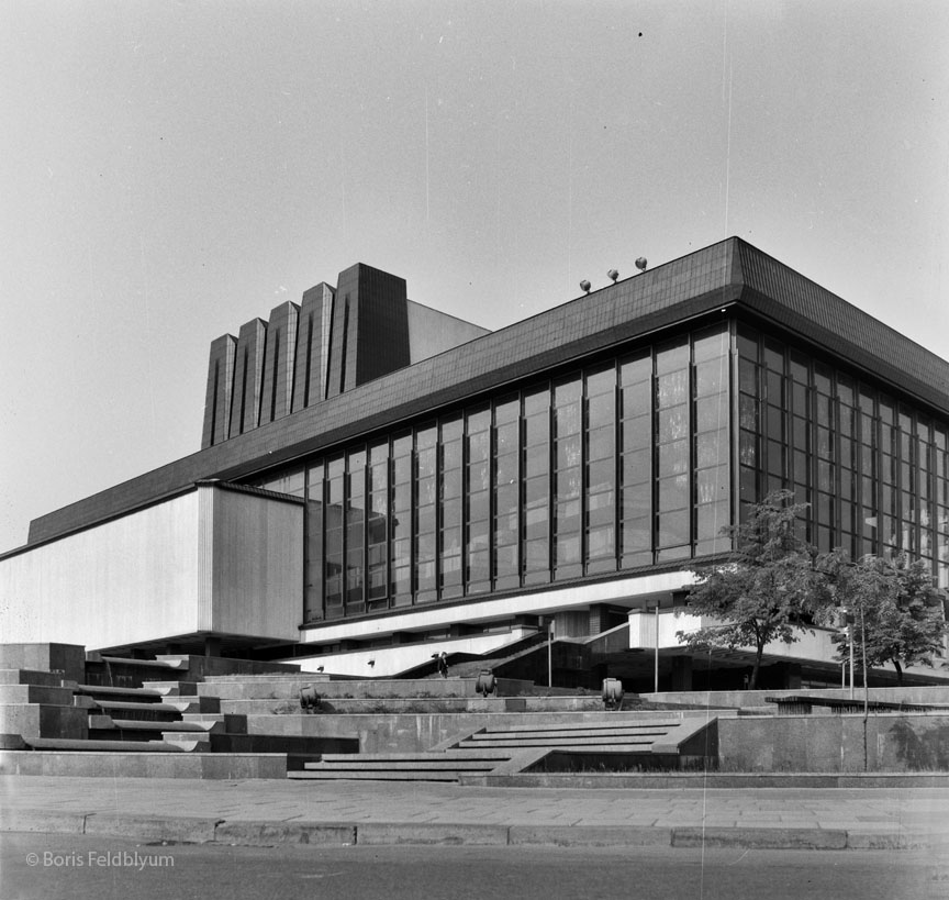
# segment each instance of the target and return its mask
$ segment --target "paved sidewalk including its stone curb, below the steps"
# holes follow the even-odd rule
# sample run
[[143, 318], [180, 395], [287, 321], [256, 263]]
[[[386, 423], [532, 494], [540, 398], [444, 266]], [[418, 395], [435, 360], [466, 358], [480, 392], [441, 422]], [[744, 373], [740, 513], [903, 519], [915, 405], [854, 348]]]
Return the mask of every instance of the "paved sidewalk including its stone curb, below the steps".
[[0, 776], [0, 830], [271, 845], [929, 848], [949, 789], [555, 789]]

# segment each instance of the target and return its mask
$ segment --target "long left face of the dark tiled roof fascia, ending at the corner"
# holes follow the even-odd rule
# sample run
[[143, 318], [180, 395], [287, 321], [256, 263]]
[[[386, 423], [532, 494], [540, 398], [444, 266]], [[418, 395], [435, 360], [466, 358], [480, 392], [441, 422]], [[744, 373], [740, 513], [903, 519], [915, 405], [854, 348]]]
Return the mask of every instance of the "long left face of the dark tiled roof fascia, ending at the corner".
[[610, 285], [33, 520], [31, 545], [320, 452], [734, 302], [733, 241]]

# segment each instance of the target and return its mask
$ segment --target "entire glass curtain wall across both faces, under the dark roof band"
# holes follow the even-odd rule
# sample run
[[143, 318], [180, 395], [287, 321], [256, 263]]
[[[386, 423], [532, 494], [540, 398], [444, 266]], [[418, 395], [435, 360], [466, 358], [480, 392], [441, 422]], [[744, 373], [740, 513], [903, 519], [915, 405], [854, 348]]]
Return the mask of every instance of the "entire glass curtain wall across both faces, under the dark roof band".
[[257, 480], [305, 496], [304, 621], [722, 553], [733, 480], [739, 515], [791, 488], [810, 503], [801, 526], [818, 549], [905, 552], [949, 587], [949, 424], [770, 334], [730, 329]]

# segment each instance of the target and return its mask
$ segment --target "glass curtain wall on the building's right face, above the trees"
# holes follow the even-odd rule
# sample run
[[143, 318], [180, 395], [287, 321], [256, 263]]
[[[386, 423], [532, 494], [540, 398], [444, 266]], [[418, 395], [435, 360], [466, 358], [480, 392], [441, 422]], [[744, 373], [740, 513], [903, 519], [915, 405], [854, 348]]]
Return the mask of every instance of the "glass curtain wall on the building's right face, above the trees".
[[819, 551], [905, 553], [949, 587], [949, 424], [749, 326], [737, 351], [743, 513], [791, 488]]

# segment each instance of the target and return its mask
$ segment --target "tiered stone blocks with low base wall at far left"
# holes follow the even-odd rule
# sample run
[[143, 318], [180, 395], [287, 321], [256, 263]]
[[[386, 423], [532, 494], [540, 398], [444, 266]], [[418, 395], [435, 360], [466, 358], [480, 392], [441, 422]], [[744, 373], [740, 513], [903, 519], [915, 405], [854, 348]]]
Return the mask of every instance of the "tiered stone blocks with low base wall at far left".
[[[283, 778], [324, 751], [358, 748], [355, 737], [249, 734], [246, 715], [222, 712], [177, 660], [94, 656], [88, 670], [70, 660], [88, 684], [62, 670], [0, 669], [0, 771]], [[142, 680], [156, 674], [163, 680]], [[180, 680], [168, 679], [175, 674]]]

